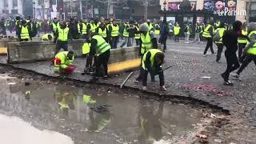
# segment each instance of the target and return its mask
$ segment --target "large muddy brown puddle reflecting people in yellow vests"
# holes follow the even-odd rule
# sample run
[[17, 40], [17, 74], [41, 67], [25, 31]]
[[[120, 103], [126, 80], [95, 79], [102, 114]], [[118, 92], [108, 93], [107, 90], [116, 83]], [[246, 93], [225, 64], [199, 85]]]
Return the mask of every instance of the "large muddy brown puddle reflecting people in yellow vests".
[[[80, 143], [165, 144], [187, 137], [200, 122], [198, 110], [107, 90], [62, 85], [7, 85], [0, 80], [0, 110], [15, 111], [37, 126]], [[1, 142], [2, 143], [2, 142]]]

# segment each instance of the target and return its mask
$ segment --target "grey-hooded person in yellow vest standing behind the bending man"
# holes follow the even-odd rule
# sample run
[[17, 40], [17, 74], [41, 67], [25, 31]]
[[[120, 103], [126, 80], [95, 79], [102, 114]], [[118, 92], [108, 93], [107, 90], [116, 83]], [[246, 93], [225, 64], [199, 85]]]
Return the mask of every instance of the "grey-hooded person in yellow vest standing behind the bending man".
[[[143, 55], [146, 54], [148, 50], [158, 49], [158, 41], [154, 36], [154, 31], [149, 30], [149, 27], [144, 23], [140, 26], [139, 30], [141, 31], [141, 45], [140, 45], [140, 55], [143, 58]], [[138, 83], [142, 80], [142, 68], [140, 69], [140, 74], [138, 78], [134, 81]], [[151, 77], [151, 81], [154, 82], [154, 77]]]

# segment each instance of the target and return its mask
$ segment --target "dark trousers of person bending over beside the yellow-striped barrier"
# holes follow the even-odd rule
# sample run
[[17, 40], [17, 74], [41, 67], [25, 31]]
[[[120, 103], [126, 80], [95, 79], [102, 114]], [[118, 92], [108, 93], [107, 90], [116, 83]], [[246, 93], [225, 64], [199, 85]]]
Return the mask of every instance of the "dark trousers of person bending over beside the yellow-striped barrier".
[[101, 67], [103, 66], [104, 75], [107, 75], [107, 63], [109, 62], [110, 58], [110, 50], [107, 50], [105, 53], [100, 54], [97, 58], [95, 58], [95, 66], [96, 71], [94, 77], [99, 77], [101, 74]]

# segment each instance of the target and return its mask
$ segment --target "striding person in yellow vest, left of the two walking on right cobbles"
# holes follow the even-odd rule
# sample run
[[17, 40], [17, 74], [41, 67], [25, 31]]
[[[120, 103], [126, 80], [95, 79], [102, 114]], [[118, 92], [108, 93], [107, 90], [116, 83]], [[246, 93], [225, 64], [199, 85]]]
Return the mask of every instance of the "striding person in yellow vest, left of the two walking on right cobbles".
[[213, 48], [213, 35], [214, 35], [214, 26], [213, 22], [208, 22], [206, 29], [203, 31], [202, 36], [207, 39], [206, 49], [203, 52], [203, 55], [206, 56], [207, 51], [210, 48], [211, 54], [214, 54]]

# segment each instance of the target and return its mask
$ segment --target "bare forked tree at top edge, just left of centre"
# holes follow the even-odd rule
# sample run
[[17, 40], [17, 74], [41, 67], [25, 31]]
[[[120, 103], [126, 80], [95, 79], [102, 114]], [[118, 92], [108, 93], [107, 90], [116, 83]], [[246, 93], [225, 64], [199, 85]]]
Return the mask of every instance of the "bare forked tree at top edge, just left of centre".
[[113, 7], [121, 7], [127, 5], [127, 0], [96, 0], [96, 2], [101, 2], [107, 5], [107, 18], [109, 18], [110, 10], [113, 10]]

